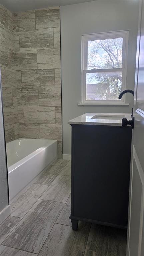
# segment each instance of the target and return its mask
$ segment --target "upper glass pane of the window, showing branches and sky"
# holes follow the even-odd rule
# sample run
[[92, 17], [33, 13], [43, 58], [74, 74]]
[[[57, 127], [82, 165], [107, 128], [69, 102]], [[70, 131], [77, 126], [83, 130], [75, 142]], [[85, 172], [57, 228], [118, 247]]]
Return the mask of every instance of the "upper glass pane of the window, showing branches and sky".
[[88, 41], [88, 69], [122, 67], [123, 38]]

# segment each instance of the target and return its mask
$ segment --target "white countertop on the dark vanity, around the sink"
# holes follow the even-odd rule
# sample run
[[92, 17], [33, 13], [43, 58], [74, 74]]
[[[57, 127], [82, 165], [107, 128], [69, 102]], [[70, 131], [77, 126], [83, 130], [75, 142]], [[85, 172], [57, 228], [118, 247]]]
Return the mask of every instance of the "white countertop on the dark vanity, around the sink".
[[[98, 115], [98, 119], [91, 119], [93, 116]], [[100, 116], [103, 116], [101, 118]], [[119, 116], [114, 117], [112, 116]], [[78, 116], [70, 121], [68, 124], [90, 124], [90, 125], [113, 125], [113, 126], [121, 126], [122, 118], [126, 117], [127, 120], [131, 120], [131, 114], [124, 113], [86, 113], [84, 115]]]

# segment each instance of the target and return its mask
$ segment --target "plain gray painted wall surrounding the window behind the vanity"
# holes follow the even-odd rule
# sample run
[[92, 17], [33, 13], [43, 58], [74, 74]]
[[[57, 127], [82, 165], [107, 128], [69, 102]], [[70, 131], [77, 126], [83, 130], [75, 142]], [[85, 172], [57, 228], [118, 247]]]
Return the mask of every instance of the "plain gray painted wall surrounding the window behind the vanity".
[[71, 154], [71, 127], [67, 121], [87, 112], [131, 113], [129, 106], [77, 106], [81, 101], [81, 35], [129, 30], [126, 88], [134, 89], [138, 1], [95, 1], [61, 7], [61, 70], [63, 154]]

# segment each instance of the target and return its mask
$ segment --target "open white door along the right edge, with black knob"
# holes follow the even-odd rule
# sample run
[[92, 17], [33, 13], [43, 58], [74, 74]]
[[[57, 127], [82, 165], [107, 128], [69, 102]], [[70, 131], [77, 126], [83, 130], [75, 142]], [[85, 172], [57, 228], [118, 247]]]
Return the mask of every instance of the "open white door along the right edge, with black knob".
[[140, 0], [127, 256], [144, 256], [144, 0]]

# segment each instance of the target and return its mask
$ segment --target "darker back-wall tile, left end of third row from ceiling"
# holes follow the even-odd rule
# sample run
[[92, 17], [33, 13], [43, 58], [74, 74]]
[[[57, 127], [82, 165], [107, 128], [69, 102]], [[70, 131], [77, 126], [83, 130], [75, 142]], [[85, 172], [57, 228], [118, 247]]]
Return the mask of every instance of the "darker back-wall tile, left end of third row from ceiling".
[[15, 52], [15, 69], [37, 69], [37, 51]]

